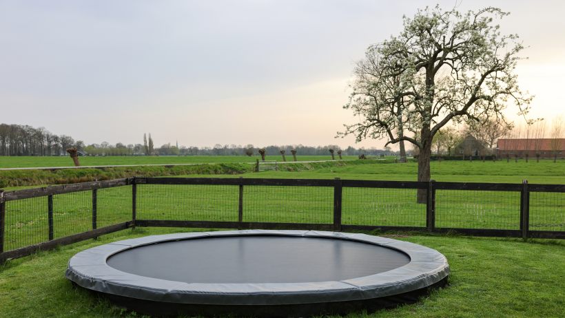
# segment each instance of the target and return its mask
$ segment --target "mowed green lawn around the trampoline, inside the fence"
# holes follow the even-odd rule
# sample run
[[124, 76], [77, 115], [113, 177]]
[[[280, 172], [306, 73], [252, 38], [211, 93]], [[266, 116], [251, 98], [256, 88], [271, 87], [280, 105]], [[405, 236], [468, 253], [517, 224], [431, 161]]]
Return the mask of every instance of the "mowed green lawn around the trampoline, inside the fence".
[[[140, 317], [72, 287], [67, 262], [86, 248], [132, 237], [195, 231], [137, 228], [88, 240], [56, 251], [11, 260], [0, 266], [0, 317]], [[196, 230], [198, 231], [198, 230]], [[459, 237], [403, 233], [392, 235], [435, 248], [451, 266], [449, 286], [416, 304], [357, 317], [562, 317], [565, 308], [563, 241]], [[299, 270], [299, 268], [296, 268]]]

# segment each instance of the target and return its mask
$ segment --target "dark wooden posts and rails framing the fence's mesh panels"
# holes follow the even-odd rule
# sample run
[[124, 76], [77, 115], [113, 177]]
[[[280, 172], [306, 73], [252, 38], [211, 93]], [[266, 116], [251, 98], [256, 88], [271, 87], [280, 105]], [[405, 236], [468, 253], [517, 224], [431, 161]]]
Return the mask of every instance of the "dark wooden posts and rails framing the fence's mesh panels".
[[[168, 186], [174, 189], [176, 186], [234, 186], [237, 187], [237, 220], [235, 221], [218, 221], [218, 220], [170, 220], [170, 218], [138, 218], [140, 215], [138, 209], [143, 208], [138, 202], [138, 191], [143, 187], [150, 185]], [[117, 187], [131, 187], [131, 191], [127, 190], [127, 198], [125, 199], [131, 204], [130, 216], [125, 222], [115, 222], [107, 226], [98, 226], [99, 211], [99, 190]], [[245, 206], [245, 187], [283, 187], [271, 188], [284, 189], [285, 187], [314, 187], [316, 189], [328, 189], [333, 192], [331, 222], [244, 222], [244, 206]], [[342, 222], [343, 218], [343, 200], [344, 189], [391, 189], [391, 191], [401, 189], [414, 189], [414, 191], [424, 191], [426, 193], [425, 204], [421, 204], [422, 209], [425, 206], [425, 224], [422, 226], [406, 226], [383, 225], [383, 224], [351, 224], [351, 222]], [[333, 189], [333, 191], [331, 191]], [[90, 191], [92, 193], [92, 205], [88, 213], [92, 216], [92, 224], [89, 224], [90, 230], [81, 233], [73, 233], [64, 237], [54, 238], [54, 195], [63, 195], [64, 193], [76, 193]], [[438, 226], [436, 222], [436, 193], [437, 191], [481, 191], [482, 193], [497, 193], [498, 191], [506, 191], [520, 195], [519, 206], [510, 206], [511, 213], [520, 215], [520, 224], [515, 224], [516, 229], [477, 229], [453, 226]], [[544, 231], [532, 229], [530, 226], [530, 195], [531, 193], [559, 193], [559, 197], [549, 200], [548, 204], [558, 206], [547, 206], [548, 209], [557, 209], [557, 215], [551, 215], [557, 218], [557, 229], [559, 231]], [[180, 195], [183, 195], [181, 191]], [[396, 195], [393, 193], [393, 195]], [[147, 194], [145, 194], [147, 197]], [[151, 197], [151, 194], [148, 195]], [[39, 243], [29, 244], [27, 246], [19, 246], [22, 242], [28, 242], [26, 236], [20, 235], [12, 239], [10, 242], [16, 244], [17, 248], [6, 248], [7, 228], [6, 215], [8, 213], [23, 213], [22, 211], [10, 211], [7, 204], [17, 202], [19, 200], [37, 199], [47, 201], [45, 211], [32, 211], [36, 214], [34, 218], [47, 219], [47, 235], [45, 237], [35, 238], [40, 240]], [[145, 197], [144, 197], [145, 198]], [[330, 198], [328, 196], [327, 198]], [[347, 197], [346, 197], [347, 198]], [[447, 197], [446, 197], [447, 198]], [[150, 200], [151, 198], [145, 198]], [[285, 198], [292, 200], [293, 198]], [[89, 199], [90, 200], [90, 199]], [[413, 198], [415, 201], [415, 197]], [[351, 201], [351, 200], [350, 200]], [[43, 201], [41, 201], [43, 202]], [[500, 236], [500, 237], [542, 237], [564, 239], [565, 231], [562, 228], [565, 224], [563, 204], [565, 204], [565, 184], [528, 184], [524, 181], [522, 184], [500, 184], [500, 183], [469, 183], [469, 182], [404, 182], [404, 181], [373, 181], [373, 180], [314, 180], [314, 179], [260, 179], [260, 178], [125, 178], [118, 180], [106, 180], [99, 182], [84, 182], [78, 184], [69, 184], [53, 187], [43, 187], [35, 189], [23, 189], [16, 191], [0, 190], [0, 262], [6, 259], [23, 257], [30, 255], [35, 251], [47, 250], [58, 245], [71, 244], [81, 240], [87, 240], [106, 233], [121, 231], [123, 229], [132, 228], [134, 226], [167, 226], [167, 227], [189, 227], [189, 228], [207, 228], [207, 229], [303, 229], [303, 230], [320, 230], [320, 231], [429, 231], [429, 232], [456, 232], [465, 235], [480, 236]], [[43, 205], [41, 205], [43, 206]], [[508, 206], [506, 206], [508, 207]], [[180, 208], [182, 211], [183, 207]], [[212, 208], [213, 209], [213, 208]], [[552, 210], [553, 211], [553, 210]], [[43, 214], [44, 213], [44, 214]], [[163, 211], [162, 215], [166, 215], [167, 211]], [[551, 212], [553, 213], [553, 212]], [[30, 217], [31, 218], [31, 217]], [[90, 218], [90, 217], [89, 217]], [[511, 222], [511, 221], [509, 221]], [[44, 229], [38, 229], [37, 235], [42, 235]], [[14, 229], [13, 231], [18, 231]], [[25, 235], [35, 235], [30, 232]], [[21, 240], [22, 242], [17, 242]], [[19, 245], [17, 245], [19, 244]], [[13, 244], [12, 244], [13, 245]]]

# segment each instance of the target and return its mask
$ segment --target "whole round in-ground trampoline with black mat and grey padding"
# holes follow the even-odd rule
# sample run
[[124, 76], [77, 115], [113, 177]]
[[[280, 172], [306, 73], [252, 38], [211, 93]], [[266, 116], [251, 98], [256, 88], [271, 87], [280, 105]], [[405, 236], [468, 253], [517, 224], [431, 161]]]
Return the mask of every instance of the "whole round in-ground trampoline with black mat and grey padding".
[[307, 316], [413, 302], [449, 275], [444, 255], [358, 233], [154, 235], [74, 255], [66, 276], [150, 315]]

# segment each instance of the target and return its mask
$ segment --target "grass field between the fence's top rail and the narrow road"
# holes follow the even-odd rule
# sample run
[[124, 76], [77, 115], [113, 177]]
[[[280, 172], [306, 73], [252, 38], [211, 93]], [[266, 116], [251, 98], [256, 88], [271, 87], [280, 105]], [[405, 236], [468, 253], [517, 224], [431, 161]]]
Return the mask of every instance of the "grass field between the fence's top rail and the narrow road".
[[[123, 157], [120, 157], [123, 158]], [[231, 158], [231, 157], [214, 157]], [[245, 157], [239, 157], [245, 158]], [[226, 159], [227, 160], [227, 159]], [[103, 169], [0, 170], [0, 188], [65, 184], [133, 176], [214, 176], [229, 178], [342, 178], [363, 180], [417, 180], [416, 162], [397, 164], [387, 160], [325, 161], [278, 165], [280, 171], [254, 173], [247, 163], [207, 163], [205, 165], [112, 167]], [[565, 160], [553, 162], [431, 162], [431, 176], [437, 181], [508, 182], [565, 184]]]

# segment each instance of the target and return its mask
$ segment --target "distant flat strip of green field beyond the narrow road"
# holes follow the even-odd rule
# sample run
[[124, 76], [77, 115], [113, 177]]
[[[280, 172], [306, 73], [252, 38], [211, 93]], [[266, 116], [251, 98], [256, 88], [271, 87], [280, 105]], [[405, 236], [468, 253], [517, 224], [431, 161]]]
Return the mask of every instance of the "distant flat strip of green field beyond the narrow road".
[[[292, 155], [286, 156], [288, 161]], [[338, 156], [336, 156], [338, 158]], [[343, 159], [357, 159], [357, 156], [342, 156]], [[79, 157], [83, 166], [111, 166], [111, 165], [174, 165], [195, 163], [245, 163], [256, 162], [260, 156], [85, 156]], [[296, 156], [298, 161], [331, 160], [327, 156]], [[266, 160], [283, 161], [283, 156], [267, 154]], [[33, 168], [33, 167], [72, 167], [73, 162], [69, 156], [0, 156], [1, 168]]]

